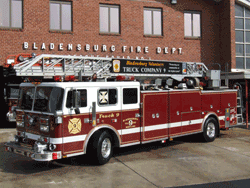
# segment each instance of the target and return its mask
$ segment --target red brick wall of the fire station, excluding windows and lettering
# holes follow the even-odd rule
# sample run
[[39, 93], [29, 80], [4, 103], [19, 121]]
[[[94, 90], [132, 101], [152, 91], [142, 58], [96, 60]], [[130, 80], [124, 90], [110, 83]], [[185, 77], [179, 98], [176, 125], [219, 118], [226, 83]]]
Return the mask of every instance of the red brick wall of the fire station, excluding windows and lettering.
[[[66, 1], [66, 0], [64, 0]], [[120, 34], [104, 35], [99, 32], [99, 4], [115, 4], [120, 6]], [[129, 56], [130, 58], [204, 62], [207, 65], [219, 63], [224, 70], [224, 64], [235, 66], [235, 32], [234, 32], [234, 0], [223, 0], [215, 3], [212, 0], [178, 0], [172, 5], [170, 0], [72, 0], [72, 32], [50, 31], [49, 0], [23, 0], [23, 29], [0, 28], [0, 64], [3, 64], [10, 54], [65, 54], [65, 55], [94, 55], [94, 56]], [[144, 36], [143, 8], [161, 8], [163, 36]], [[201, 12], [201, 39], [184, 38], [184, 11]], [[29, 44], [23, 48], [24, 42]], [[38, 49], [32, 49], [36, 43]], [[41, 50], [43, 43], [46, 49]], [[55, 48], [49, 50], [50, 43]], [[63, 50], [58, 46], [62, 43]], [[73, 49], [68, 50], [67, 45]], [[81, 45], [81, 50], [77, 45]], [[91, 46], [89, 51], [85, 45]], [[94, 51], [98, 45], [98, 51]], [[107, 52], [101, 50], [107, 46]], [[115, 51], [110, 47], [114, 45]], [[126, 46], [125, 52], [122, 48]], [[133, 47], [131, 52], [130, 47]], [[137, 53], [140, 46], [142, 52]], [[79, 46], [78, 46], [79, 47]], [[144, 48], [148, 47], [148, 53]], [[156, 49], [160, 47], [161, 53]], [[164, 48], [168, 47], [168, 53]], [[171, 49], [176, 48], [175, 53]], [[181, 48], [181, 54], [178, 50]]]

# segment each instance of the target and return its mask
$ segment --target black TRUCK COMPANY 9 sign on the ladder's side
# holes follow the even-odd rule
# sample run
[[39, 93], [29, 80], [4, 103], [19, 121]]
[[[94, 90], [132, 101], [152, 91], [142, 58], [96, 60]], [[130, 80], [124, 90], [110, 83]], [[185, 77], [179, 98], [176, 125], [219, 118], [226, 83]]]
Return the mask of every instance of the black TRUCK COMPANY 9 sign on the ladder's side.
[[116, 59], [110, 71], [125, 74], [186, 74], [186, 68], [186, 63], [179, 62]]

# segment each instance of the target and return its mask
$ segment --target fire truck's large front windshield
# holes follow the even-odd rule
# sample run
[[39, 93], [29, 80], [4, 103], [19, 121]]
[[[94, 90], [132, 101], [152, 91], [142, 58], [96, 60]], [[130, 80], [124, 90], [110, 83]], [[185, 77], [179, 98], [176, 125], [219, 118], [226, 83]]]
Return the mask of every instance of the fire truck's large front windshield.
[[37, 87], [34, 111], [55, 113], [62, 109], [64, 90], [58, 87]]

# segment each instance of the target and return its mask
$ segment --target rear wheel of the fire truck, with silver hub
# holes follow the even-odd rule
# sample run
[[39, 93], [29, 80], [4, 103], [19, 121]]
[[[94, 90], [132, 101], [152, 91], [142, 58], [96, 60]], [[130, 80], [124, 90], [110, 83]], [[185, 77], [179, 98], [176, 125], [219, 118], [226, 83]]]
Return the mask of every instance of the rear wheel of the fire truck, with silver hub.
[[203, 127], [203, 139], [205, 142], [213, 142], [218, 134], [218, 123], [213, 117], [209, 117]]

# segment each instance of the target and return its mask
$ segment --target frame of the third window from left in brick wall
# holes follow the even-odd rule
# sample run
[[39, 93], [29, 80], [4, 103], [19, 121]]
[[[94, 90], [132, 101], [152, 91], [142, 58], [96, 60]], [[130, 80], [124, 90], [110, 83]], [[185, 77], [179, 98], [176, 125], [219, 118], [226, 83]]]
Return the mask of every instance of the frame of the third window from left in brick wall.
[[[106, 7], [108, 8], [108, 32], [106, 31], [101, 31], [101, 19], [100, 19], [100, 16], [101, 16], [101, 7]], [[119, 31], [118, 32], [111, 32], [111, 14], [110, 14], [110, 8], [117, 8], [118, 9], [118, 15], [119, 15], [119, 19], [118, 19], [118, 29]], [[120, 5], [115, 5], [115, 4], [99, 4], [99, 32], [100, 34], [114, 34], [114, 35], [119, 35], [121, 34], [121, 8], [120, 8]]]

